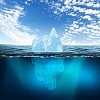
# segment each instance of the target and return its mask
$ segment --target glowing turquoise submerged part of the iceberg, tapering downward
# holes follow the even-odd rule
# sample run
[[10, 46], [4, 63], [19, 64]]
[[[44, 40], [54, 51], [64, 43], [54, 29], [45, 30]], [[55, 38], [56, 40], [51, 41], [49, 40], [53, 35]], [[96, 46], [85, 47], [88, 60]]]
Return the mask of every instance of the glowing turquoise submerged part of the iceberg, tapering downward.
[[32, 58], [35, 65], [35, 76], [49, 90], [56, 88], [56, 79], [64, 71], [64, 58]]

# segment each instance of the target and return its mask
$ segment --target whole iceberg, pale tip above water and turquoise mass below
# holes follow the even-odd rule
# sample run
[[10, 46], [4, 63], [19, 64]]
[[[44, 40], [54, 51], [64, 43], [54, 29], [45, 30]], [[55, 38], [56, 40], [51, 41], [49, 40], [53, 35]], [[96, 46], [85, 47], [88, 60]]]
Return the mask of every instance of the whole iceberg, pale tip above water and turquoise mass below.
[[[32, 43], [33, 52], [63, 52], [61, 40], [55, 28], [52, 28], [49, 35], [36, 39]], [[56, 88], [56, 79], [59, 73], [63, 72], [64, 58], [32, 58], [35, 66], [35, 76], [42, 81], [49, 90]]]

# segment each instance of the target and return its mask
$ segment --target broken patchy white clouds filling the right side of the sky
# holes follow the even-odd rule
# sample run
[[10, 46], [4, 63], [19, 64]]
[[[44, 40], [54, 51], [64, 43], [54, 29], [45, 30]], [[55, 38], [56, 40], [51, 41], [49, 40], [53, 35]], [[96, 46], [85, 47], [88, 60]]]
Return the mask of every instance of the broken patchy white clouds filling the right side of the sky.
[[[100, 44], [100, 0], [41, 0], [61, 17], [66, 15], [63, 44]], [[70, 24], [69, 24], [70, 23]]]

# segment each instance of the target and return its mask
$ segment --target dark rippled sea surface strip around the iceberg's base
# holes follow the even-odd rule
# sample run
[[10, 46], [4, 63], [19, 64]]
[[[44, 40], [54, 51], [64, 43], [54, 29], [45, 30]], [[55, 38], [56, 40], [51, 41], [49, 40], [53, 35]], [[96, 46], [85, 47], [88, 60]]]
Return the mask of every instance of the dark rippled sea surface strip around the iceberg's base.
[[63, 46], [63, 52], [33, 52], [31, 46], [0, 45], [0, 57], [100, 57], [100, 46]]

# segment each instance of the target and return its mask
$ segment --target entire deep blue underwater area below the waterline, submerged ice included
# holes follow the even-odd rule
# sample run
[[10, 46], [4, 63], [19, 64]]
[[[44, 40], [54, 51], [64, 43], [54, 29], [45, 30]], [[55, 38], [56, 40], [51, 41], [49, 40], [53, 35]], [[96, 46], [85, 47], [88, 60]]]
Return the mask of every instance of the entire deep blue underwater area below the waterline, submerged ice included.
[[100, 58], [0, 58], [0, 100], [100, 100]]

